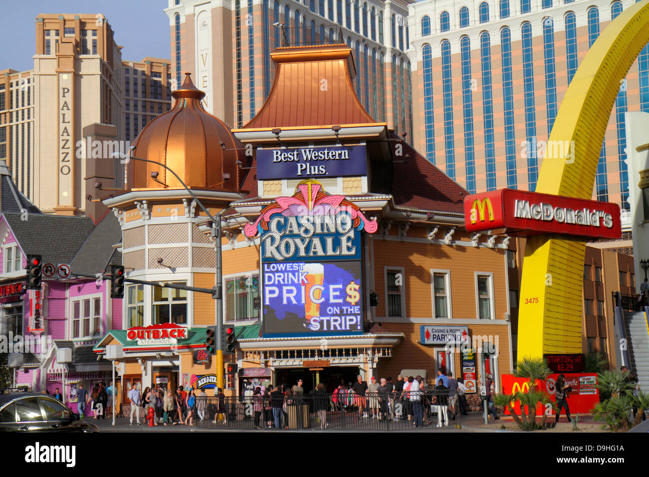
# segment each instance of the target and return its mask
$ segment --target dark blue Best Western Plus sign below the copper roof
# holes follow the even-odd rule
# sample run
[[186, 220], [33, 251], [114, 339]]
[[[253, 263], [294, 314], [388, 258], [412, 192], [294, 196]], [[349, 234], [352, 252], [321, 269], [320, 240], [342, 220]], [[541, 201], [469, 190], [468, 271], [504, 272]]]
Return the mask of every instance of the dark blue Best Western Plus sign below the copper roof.
[[367, 175], [365, 146], [258, 149], [257, 178], [320, 178]]

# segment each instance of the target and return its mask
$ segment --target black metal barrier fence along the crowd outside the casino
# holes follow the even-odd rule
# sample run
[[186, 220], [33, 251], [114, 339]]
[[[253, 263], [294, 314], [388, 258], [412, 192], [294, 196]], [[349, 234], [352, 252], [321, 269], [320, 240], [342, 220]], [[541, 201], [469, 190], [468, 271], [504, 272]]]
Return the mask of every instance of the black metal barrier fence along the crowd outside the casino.
[[[446, 389], [410, 395], [367, 393], [365, 397], [354, 393], [199, 396], [193, 409], [193, 424], [223, 430], [409, 430], [420, 422], [421, 427], [454, 428], [460, 423], [460, 403], [448, 393]], [[178, 422], [177, 416], [175, 421]]]

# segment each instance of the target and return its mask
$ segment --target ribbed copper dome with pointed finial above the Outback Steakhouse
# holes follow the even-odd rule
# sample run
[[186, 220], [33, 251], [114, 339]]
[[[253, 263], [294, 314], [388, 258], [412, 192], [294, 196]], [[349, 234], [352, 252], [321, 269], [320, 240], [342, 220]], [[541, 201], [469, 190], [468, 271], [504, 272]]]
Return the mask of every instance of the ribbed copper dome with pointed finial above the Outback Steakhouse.
[[[167, 165], [190, 188], [239, 190], [241, 142], [220, 119], [206, 112], [205, 96], [185, 73], [185, 81], [175, 92], [173, 108], [140, 132], [132, 156]], [[127, 189], [180, 189], [182, 186], [164, 167], [131, 160], [127, 166]], [[158, 172], [158, 181], [151, 178]], [[160, 184], [162, 182], [163, 184]]]

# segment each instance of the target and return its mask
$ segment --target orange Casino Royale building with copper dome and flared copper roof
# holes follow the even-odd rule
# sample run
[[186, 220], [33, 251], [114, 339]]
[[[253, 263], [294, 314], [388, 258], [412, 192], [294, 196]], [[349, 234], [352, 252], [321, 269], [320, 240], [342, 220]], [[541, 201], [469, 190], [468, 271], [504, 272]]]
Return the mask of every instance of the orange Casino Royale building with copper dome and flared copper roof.
[[[488, 371], [509, 373], [515, 241], [465, 230], [467, 191], [367, 114], [347, 45], [271, 57], [271, 93], [244, 127], [205, 112], [187, 75], [132, 153], [166, 164], [223, 215], [223, 317], [236, 333], [225, 362], [238, 365], [226, 395], [254, 379], [333, 391], [357, 374], [432, 380], [439, 367], [475, 389], [480, 350], [447, 346], [460, 341], [489, 343]], [[127, 278], [214, 287], [211, 229], [177, 179], [131, 160], [127, 183], [104, 199]], [[200, 352], [215, 323], [211, 295], [127, 284], [123, 301], [123, 330], [95, 353], [123, 345], [124, 391], [214, 386], [215, 358]]]

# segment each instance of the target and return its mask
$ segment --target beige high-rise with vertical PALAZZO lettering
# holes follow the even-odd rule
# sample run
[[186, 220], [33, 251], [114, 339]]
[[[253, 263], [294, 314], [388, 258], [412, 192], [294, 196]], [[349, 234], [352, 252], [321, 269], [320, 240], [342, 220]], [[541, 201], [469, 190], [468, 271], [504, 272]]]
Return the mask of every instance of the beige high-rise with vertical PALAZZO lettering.
[[34, 69], [0, 71], [0, 159], [18, 189], [46, 214], [101, 219], [95, 184], [124, 188], [112, 154], [169, 110], [169, 63], [123, 62], [102, 14], [39, 15]]

